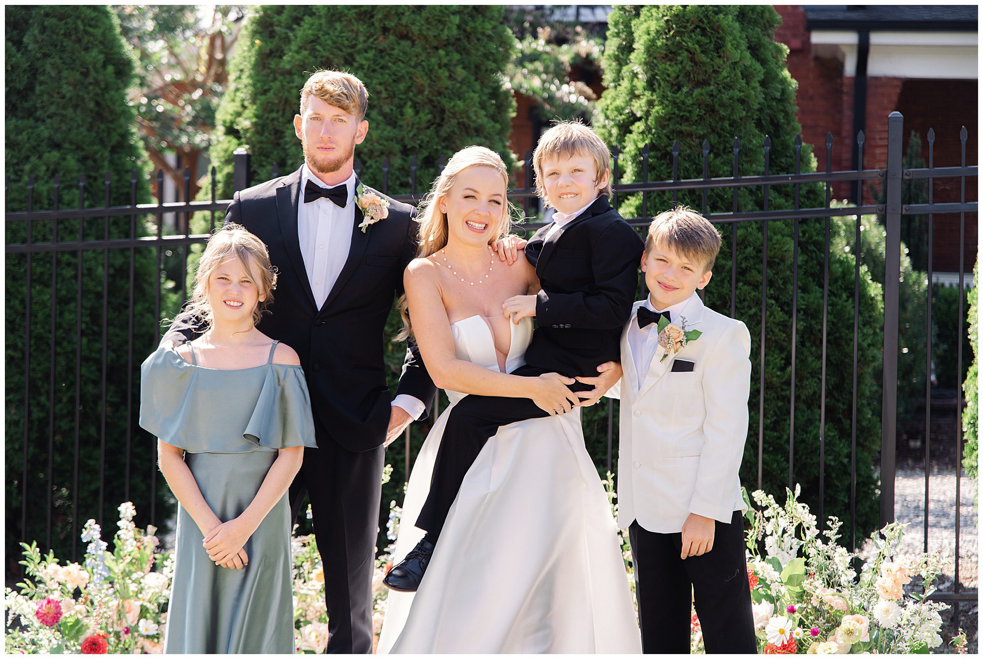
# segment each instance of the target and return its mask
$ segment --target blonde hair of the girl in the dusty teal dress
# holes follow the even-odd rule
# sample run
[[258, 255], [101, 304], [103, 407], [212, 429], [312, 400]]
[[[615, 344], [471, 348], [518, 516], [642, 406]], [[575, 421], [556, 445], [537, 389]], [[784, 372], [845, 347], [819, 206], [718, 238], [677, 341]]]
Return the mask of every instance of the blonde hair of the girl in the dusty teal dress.
[[260, 292], [260, 302], [253, 309], [253, 326], [260, 323], [262, 314], [273, 302], [276, 288], [276, 269], [269, 263], [266, 245], [241, 224], [226, 224], [208, 239], [195, 272], [195, 288], [191, 300], [174, 319], [190, 319], [200, 324], [200, 331], [211, 327], [212, 310], [208, 304], [208, 278], [219, 265], [235, 258], [249, 272]]

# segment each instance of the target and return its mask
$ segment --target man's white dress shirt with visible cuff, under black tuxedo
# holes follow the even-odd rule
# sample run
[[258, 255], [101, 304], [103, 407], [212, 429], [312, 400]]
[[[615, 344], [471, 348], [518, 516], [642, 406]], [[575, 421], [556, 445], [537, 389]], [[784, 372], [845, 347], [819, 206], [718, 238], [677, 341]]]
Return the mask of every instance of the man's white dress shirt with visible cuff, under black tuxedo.
[[[308, 281], [311, 282], [311, 290], [320, 309], [338, 280], [352, 247], [352, 231], [356, 219], [355, 172], [342, 184], [348, 187], [348, 199], [344, 208], [323, 197], [305, 203], [304, 190], [308, 181], [321, 188], [332, 186], [324, 185], [307, 163], [304, 163], [301, 172], [301, 204], [297, 209], [297, 237]], [[419, 419], [427, 409], [423, 401], [406, 393], [397, 395], [392, 404], [403, 408], [414, 419]]]

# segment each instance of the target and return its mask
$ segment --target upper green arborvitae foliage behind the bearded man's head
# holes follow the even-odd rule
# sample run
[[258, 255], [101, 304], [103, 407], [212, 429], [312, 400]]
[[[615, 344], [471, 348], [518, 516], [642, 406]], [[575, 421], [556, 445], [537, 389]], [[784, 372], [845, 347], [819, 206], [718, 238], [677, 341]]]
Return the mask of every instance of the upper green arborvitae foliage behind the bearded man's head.
[[300, 90], [319, 68], [347, 70], [369, 90], [369, 135], [358, 147], [362, 178], [388, 192], [410, 192], [410, 158], [419, 158], [418, 191], [437, 159], [470, 145], [506, 157], [515, 101], [503, 78], [515, 37], [501, 7], [255, 7], [230, 63], [229, 90], [216, 113], [219, 199], [232, 194], [232, 153], [248, 146], [253, 180], [303, 161], [294, 135]]

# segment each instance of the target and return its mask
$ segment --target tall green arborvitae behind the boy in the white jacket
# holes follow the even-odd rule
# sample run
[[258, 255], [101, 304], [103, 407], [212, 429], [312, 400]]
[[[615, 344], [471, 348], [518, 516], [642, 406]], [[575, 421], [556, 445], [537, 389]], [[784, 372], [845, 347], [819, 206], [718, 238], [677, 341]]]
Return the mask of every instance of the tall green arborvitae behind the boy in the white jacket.
[[[764, 173], [766, 136], [772, 173], [795, 169], [795, 82], [785, 68], [785, 46], [774, 40], [781, 19], [770, 6], [615, 7], [609, 16], [605, 55], [607, 91], [599, 101], [598, 130], [621, 150], [622, 181], [642, 178], [642, 151], [649, 146], [649, 180], [672, 178], [671, 150], [679, 143], [678, 176], [703, 176], [703, 142], [710, 143], [709, 176], [733, 173], [734, 138], [740, 141], [739, 173]], [[846, 149], [846, 145], [838, 145]], [[800, 171], [814, 171], [815, 158], [802, 145]], [[768, 190], [770, 210], [791, 209], [792, 186]], [[647, 215], [671, 206], [669, 194], [649, 196]], [[701, 192], [681, 192], [678, 202], [703, 210]], [[709, 212], [761, 210], [764, 190], [711, 190]], [[801, 208], [825, 202], [817, 186], [801, 186]], [[641, 214], [639, 195], [622, 198], [625, 217]], [[836, 228], [838, 220], [834, 219]], [[758, 484], [762, 246], [761, 222], [737, 224], [737, 251], [731, 253], [732, 225], [719, 225], [723, 250], [706, 291], [706, 302], [730, 314], [731, 259], [736, 257], [736, 318], [751, 332], [751, 412], [741, 482]], [[792, 300], [797, 296], [794, 457], [792, 480], [803, 499], [819, 510], [820, 396], [822, 368], [825, 220], [799, 222], [798, 280], [793, 289], [794, 222], [773, 220], [767, 228], [767, 313], [764, 363], [763, 465], [761, 481], [781, 492], [789, 480], [789, 423]], [[846, 519], [850, 510], [852, 407], [853, 275], [851, 254], [832, 251], [829, 265], [827, 338], [825, 514]], [[881, 287], [862, 271], [857, 374], [857, 530], [877, 522], [874, 464], [880, 446], [883, 327]]]

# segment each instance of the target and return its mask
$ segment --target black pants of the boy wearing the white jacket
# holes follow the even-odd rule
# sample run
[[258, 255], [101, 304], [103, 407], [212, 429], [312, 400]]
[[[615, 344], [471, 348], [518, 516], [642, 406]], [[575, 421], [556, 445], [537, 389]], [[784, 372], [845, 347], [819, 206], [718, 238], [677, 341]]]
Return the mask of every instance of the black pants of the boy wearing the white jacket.
[[644, 653], [689, 654], [690, 602], [707, 654], [757, 653], [741, 512], [716, 523], [714, 548], [685, 560], [682, 533], [628, 527]]

